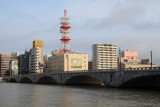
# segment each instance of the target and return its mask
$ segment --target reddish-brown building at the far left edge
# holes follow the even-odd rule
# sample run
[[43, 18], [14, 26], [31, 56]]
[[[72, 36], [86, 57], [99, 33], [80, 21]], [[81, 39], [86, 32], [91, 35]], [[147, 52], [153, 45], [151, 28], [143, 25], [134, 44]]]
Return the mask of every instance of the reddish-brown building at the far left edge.
[[11, 54], [0, 54], [0, 72], [1, 76], [10, 75], [9, 63], [10, 60], [17, 60], [18, 53], [12, 52]]

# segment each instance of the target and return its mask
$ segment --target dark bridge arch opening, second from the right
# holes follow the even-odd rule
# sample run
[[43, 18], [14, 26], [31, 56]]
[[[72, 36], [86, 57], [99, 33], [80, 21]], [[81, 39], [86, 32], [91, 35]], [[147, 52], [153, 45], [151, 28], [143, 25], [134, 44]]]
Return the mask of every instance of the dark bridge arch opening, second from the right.
[[65, 81], [67, 85], [102, 85], [103, 83], [95, 77], [89, 75], [72, 76]]

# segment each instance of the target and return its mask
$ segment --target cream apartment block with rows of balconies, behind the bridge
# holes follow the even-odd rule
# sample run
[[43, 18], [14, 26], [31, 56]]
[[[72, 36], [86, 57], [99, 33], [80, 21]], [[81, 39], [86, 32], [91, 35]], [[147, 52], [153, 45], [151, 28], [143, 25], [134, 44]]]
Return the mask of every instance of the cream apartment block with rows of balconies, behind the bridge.
[[94, 44], [92, 69], [117, 69], [117, 45]]

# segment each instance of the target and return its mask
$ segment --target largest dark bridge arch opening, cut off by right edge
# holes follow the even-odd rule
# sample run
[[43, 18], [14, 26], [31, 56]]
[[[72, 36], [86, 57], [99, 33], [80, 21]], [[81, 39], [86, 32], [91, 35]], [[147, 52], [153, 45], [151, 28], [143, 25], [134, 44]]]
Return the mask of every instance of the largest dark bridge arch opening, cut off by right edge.
[[160, 75], [139, 76], [127, 80], [119, 87], [160, 87]]

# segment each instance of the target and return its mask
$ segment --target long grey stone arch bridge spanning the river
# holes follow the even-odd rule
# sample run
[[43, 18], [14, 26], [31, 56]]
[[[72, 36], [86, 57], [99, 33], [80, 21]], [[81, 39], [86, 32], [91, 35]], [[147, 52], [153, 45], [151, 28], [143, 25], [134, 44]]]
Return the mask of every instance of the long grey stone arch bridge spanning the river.
[[160, 87], [160, 68], [53, 72], [4, 77], [7, 82], [106, 87]]

